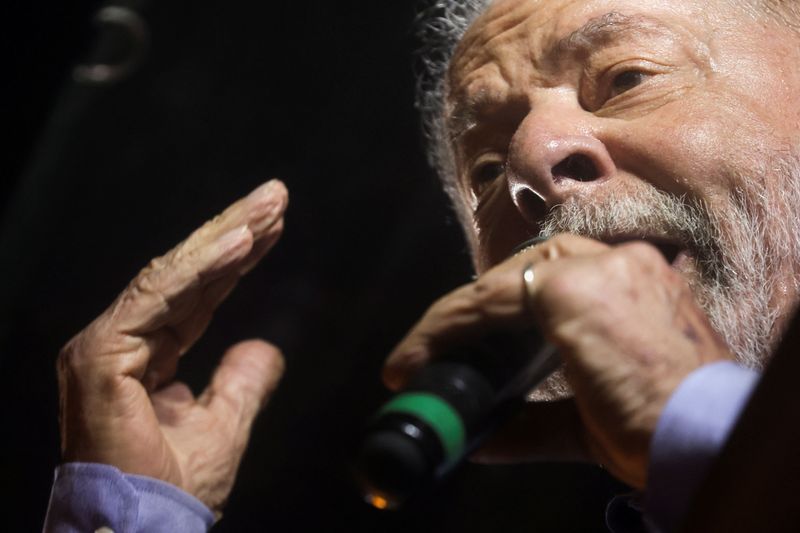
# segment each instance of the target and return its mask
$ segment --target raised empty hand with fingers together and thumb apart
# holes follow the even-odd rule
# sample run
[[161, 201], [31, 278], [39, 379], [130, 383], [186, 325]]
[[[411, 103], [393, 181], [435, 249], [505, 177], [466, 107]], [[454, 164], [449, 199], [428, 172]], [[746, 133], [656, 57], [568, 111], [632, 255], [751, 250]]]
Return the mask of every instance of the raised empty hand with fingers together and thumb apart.
[[286, 205], [280, 182], [256, 189], [154, 259], [63, 348], [65, 461], [154, 477], [221, 511], [283, 357], [260, 340], [236, 344], [198, 397], [174, 375], [216, 307], [280, 237]]

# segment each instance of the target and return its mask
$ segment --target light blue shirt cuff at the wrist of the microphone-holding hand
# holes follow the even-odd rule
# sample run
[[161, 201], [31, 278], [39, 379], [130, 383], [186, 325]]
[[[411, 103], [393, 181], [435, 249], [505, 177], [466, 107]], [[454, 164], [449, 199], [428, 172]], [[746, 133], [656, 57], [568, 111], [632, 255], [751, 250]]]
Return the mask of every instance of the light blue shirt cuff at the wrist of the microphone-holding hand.
[[645, 520], [673, 531], [719, 454], [759, 374], [730, 361], [702, 366], [670, 397], [650, 444]]

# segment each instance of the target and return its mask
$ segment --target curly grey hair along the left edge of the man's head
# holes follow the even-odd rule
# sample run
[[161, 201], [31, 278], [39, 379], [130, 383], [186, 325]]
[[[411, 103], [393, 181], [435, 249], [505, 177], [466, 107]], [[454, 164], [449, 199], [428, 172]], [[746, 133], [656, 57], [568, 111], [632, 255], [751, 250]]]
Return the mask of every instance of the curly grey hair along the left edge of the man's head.
[[428, 162], [439, 173], [465, 227], [472, 226], [472, 214], [459, 200], [455, 160], [444, 122], [447, 71], [450, 59], [467, 28], [492, 0], [434, 0], [417, 17], [417, 38], [421, 42], [417, 72], [416, 107], [420, 112]]

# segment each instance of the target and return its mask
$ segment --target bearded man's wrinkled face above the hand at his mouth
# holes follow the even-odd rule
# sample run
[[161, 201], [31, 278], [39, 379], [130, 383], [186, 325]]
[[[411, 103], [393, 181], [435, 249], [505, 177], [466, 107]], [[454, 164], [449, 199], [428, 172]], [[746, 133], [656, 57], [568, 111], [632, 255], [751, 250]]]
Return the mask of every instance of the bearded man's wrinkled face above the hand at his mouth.
[[732, 337], [773, 342], [797, 294], [799, 43], [730, 0], [494, 2], [446, 104], [479, 270], [542, 230], [644, 238], [763, 351]]

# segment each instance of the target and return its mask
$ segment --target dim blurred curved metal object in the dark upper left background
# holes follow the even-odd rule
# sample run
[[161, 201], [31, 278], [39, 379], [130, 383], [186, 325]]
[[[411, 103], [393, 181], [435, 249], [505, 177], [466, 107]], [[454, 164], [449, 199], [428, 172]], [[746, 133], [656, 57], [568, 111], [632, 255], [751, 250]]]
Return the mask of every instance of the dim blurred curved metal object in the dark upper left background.
[[149, 47], [147, 23], [130, 7], [109, 5], [97, 12], [94, 24], [100, 36], [89, 61], [73, 69], [73, 80], [112, 85], [128, 78], [142, 64]]

